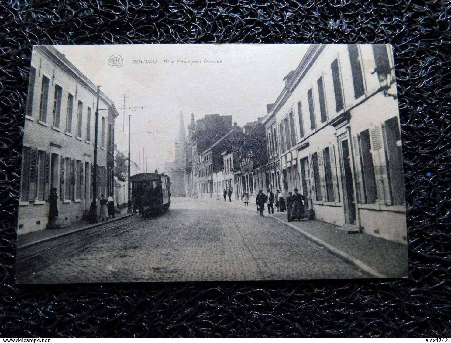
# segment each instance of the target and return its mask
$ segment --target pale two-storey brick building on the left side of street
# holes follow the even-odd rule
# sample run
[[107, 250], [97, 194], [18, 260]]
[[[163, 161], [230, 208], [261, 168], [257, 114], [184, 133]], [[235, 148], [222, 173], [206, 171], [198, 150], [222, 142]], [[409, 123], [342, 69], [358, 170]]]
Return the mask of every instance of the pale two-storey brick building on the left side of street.
[[[48, 196], [57, 189], [59, 221], [79, 221], [92, 201], [97, 86], [53, 46], [32, 54], [23, 137], [18, 233], [48, 222]], [[99, 97], [97, 194], [114, 186], [114, 121], [118, 113]]]

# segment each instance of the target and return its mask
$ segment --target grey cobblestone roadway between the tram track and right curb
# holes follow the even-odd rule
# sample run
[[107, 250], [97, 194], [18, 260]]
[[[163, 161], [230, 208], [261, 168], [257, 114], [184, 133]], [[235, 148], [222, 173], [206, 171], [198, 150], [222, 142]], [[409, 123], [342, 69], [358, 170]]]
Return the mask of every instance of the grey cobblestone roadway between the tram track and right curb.
[[166, 214], [137, 218], [130, 230], [29, 273], [22, 282], [372, 277], [266, 213], [260, 217], [253, 207], [237, 205], [175, 198]]

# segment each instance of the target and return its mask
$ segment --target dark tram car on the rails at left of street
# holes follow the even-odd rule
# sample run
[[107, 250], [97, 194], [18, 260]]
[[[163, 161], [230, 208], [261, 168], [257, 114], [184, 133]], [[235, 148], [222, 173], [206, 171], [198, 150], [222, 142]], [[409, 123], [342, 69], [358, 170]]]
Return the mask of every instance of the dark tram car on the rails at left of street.
[[143, 217], [166, 212], [170, 206], [170, 178], [164, 174], [141, 173], [130, 176], [132, 204]]

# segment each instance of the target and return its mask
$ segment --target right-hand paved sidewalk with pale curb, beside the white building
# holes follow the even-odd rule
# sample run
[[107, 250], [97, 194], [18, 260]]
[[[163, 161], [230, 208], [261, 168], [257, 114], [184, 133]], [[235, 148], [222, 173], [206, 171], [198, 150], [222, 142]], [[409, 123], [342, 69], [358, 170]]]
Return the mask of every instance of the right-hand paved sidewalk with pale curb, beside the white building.
[[[233, 206], [249, 212], [249, 215], [259, 216], [255, 206], [255, 196], [249, 197], [249, 206], [244, 206], [241, 199], [232, 202], [223, 198], [199, 198], [195, 201], [215, 201], [224, 206]], [[275, 211], [277, 208], [274, 207]], [[274, 212], [268, 215], [267, 209], [263, 213], [265, 217], [279, 221], [293, 230], [297, 230], [309, 239], [321, 244], [332, 253], [339, 255], [359, 268], [377, 278], [399, 278], [408, 275], [407, 246], [405, 244], [391, 242], [387, 239], [375, 237], [369, 234], [348, 234], [341, 226], [336, 226], [324, 221], [287, 221], [286, 212]]]

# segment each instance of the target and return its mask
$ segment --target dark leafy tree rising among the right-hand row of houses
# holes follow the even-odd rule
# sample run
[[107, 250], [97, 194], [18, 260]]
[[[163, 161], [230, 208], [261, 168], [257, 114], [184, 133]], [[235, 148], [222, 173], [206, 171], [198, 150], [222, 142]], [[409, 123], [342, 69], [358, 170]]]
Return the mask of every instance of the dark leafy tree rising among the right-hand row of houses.
[[232, 149], [238, 153], [240, 163], [249, 160], [253, 169], [264, 166], [268, 162], [265, 126], [259, 122], [249, 133], [240, 132], [232, 142]]

